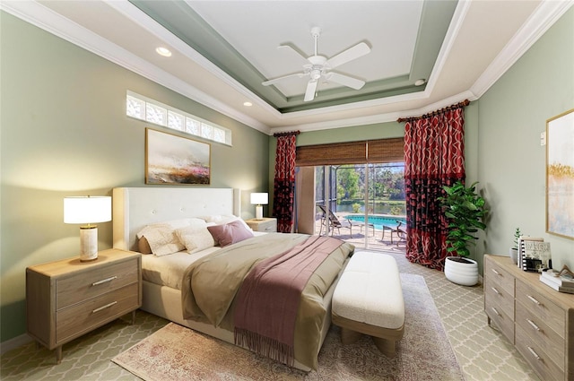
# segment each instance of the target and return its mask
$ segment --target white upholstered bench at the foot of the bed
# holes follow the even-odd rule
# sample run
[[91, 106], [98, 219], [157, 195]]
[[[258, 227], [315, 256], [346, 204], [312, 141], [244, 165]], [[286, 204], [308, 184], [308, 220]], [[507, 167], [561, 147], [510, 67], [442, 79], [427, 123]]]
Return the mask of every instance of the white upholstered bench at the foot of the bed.
[[404, 333], [403, 289], [395, 258], [355, 252], [336, 285], [332, 316], [344, 344], [368, 334], [379, 351], [394, 357]]

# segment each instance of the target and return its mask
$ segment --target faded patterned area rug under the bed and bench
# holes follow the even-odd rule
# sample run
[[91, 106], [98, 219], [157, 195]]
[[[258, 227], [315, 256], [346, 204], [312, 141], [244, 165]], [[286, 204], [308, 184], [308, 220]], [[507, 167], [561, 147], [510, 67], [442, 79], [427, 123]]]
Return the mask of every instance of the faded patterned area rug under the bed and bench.
[[319, 368], [305, 373], [170, 323], [112, 361], [146, 381], [464, 380], [424, 278], [402, 273], [401, 281], [404, 336], [393, 359], [381, 354], [368, 336], [342, 345], [339, 328], [332, 326], [319, 353]]

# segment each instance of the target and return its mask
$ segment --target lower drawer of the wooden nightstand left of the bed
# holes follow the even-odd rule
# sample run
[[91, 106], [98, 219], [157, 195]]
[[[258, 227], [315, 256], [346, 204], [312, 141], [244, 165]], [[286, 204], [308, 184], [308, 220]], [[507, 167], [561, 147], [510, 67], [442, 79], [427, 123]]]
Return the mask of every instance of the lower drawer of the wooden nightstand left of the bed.
[[139, 307], [139, 284], [133, 283], [56, 313], [56, 342], [90, 332]]

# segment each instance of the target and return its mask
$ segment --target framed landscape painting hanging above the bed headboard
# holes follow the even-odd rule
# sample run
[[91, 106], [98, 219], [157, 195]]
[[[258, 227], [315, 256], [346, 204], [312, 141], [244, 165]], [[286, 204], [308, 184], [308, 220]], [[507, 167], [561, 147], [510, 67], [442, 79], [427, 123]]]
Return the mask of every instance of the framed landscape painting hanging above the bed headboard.
[[209, 185], [211, 145], [145, 129], [145, 184]]

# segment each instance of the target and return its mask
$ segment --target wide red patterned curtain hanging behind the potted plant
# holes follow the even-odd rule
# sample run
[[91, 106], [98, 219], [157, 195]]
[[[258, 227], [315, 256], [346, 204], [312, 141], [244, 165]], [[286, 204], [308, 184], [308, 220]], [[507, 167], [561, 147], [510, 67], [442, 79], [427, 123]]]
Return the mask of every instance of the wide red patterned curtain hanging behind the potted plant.
[[467, 104], [466, 100], [431, 115], [405, 119], [404, 125], [406, 258], [441, 271], [448, 223], [437, 198], [444, 194], [442, 186], [465, 178], [463, 107]]

